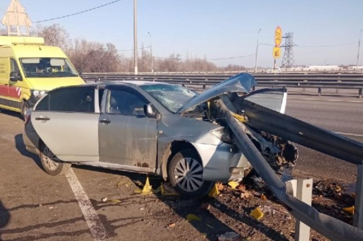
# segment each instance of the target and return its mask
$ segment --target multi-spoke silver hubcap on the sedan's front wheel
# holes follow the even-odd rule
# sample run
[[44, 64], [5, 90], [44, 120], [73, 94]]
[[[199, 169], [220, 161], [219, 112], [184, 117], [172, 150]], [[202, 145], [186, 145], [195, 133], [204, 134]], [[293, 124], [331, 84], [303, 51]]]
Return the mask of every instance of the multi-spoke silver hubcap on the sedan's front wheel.
[[203, 185], [203, 167], [193, 158], [181, 159], [174, 168], [178, 186], [188, 192], [197, 191]]

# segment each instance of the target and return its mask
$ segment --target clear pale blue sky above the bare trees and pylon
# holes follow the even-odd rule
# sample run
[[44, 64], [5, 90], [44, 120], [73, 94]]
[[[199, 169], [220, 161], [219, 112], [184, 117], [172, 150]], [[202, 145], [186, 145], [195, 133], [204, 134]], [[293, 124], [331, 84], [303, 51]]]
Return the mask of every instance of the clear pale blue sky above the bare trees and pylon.
[[[105, 4], [111, 0], [20, 0], [30, 19], [49, 19]], [[0, 14], [10, 0], [0, 2]], [[296, 64], [355, 64], [359, 31], [363, 28], [362, 0], [243, 1], [138, 0], [139, 47], [152, 34], [155, 56], [179, 53], [207, 59], [254, 54], [258, 29], [260, 43], [273, 44], [274, 30], [294, 32]], [[133, 48], [133, 0], [81, 15], [42, 23], [61, 24], [72, 38], [112, 42], [118, 49]], [[363, 35], [362, 35], [363, 36]], [[363, 49], [363, 48], [361, 48]], [[130, 52], [122, 52], [130, 56]], [[363, 51], [360, 64], [363, 64]], [[277, 61], [279, 65], [281, 58]], [[254, 57], [213, 61], [217, 65], [254, 66]], [[260, 45], [258, 66], [272, 66], [272, 46]]]

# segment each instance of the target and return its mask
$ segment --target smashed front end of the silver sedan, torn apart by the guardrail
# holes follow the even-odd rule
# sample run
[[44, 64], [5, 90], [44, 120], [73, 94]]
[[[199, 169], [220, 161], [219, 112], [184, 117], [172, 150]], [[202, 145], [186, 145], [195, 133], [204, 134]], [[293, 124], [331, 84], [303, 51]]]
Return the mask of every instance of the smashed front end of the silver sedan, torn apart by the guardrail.
[[[217, 124], [227, 132], [227, 135], [231, 135], [232, 133], [228, 132], [228, 126], [225, 125], [223, 117], [219, 116], [215, 106], [215, 102], [219, 99], [220, 94], [234, 94], [238, 98], [242, 96], [250, 101], [261, 103], [274, 111], [280, 113], [285, 112], [287, 99], [286, 89], [262, 89], [249, 92], [255, 85], [257, 83], [252, 75], [236, 75], [212, 89], [205, 91], [199, 97], [192, 99], [191, 103], [188, 103], [180, 110], [180, 114], [183, 117]], [[250, 140], [276, 172], [282, 173], [284, 169], [291, 170], [291, 167], [295, 166], [296, 160], [298, 159], [298, 151], [291, 142], [248, 124], [245, 115], [243, 113], [237, 113], [234, 114], [234, 117], [246, 123], [245, 131]], [[204, 167], [205, 180], [225, 181], [227, 176], [229, 177], [228, 179], [241, 179], [252, 171], [251, 164], [245, 155], [238, 150], [231, 136], [225, 139], [229, 139], [230, 141], [229, 143], [227, 141], [227, 143], [219, 147], [220, 150], [225, 148], [224, 151], [220, 152], [226, 154], [223, 158], [221, 156], [213, 158], [217, 153], [216, 150], [210, 150], [210, 147], [207, 148], [201, 144], [193, 143], [201, 156], [205, 156], [209, 160], [208, 164], [206, 162], [206, 166]], [[226, 171], [226, 163], [220, 162], [221, 159], [229, 160], [227, 163], [229, 171]], [[216, 177], [219, 178], [216, 179]]]

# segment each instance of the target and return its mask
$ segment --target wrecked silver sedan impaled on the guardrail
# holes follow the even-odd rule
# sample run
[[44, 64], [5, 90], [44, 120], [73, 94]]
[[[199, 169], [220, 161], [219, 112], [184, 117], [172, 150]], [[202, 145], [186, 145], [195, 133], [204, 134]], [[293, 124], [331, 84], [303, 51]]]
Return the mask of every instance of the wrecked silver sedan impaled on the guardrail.
[[[152, 173], [181, 195], [203, 196], [215, 181], [240, 179], [252, 169], [212, 107], [220, 95], [246, 95], [255, 85], [252, 75], [239, 74], [202, 94], [143, 81], [61, 87], [28, 111], [24, 143], [50, 175], [71, 164]], [[284, 112], [285, 91], [252, 93], [250, 101]], [[281, 153], [258, 130], [249, 134], [261, 152]]]

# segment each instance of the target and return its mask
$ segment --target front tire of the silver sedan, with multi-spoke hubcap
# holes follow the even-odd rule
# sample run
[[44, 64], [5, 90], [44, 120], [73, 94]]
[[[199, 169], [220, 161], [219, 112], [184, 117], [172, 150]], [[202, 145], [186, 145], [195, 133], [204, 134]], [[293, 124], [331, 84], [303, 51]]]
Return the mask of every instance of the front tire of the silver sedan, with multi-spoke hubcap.
[[197, 198], [207, 195], [215, 183], [203, 181], [202, 176], [203, 165], [193, 149], [178, 152], [169, 163], [170, 184], [181, 196]]

